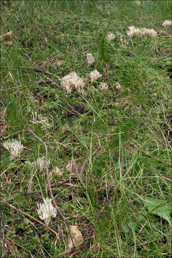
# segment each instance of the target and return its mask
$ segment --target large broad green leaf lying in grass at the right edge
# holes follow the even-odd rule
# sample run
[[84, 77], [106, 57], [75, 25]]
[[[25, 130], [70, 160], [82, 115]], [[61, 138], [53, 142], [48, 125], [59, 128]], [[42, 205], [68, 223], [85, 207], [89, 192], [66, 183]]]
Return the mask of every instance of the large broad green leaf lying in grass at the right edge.
[[143, 201], [145, 208], [152, 214], [156, 214], [171, 224], [171, 205], [164, 200], [146, 197]]

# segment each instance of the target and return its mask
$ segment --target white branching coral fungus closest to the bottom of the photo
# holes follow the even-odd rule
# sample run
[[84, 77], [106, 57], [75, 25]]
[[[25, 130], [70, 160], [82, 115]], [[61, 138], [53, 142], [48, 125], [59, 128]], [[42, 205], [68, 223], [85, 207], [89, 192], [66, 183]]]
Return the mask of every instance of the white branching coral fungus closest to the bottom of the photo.
[[[48, 226], [50, 223], [50, 218], [53, 216], [54, 218], [56, 217], [56, 209], [53, 207], [51, 201], [52, 199], [43, 199], [44, 203], [43, 204], [38, 204], [38, 209], [37, 212], [39, 214], [40, 219], [44, 220], [45, 225]], [[40, 207], [39, 207], [40, 205]]]

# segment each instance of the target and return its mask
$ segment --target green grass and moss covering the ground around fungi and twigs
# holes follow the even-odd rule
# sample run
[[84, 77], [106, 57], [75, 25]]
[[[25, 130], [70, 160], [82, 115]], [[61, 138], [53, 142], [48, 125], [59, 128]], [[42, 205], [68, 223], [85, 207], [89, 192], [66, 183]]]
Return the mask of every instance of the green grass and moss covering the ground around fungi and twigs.
[[[165, 20], [171, 20], [171, 1], [1, 1], [1, 35], [12, 31], [10, 47], [1, 41], [1, 136], [28, 127], [47, 144], [50, 168], [63, 173], [51, 181], [56, 204], [83, 235], [83, 247], [63, 254], [68, 230], [61, 216], [49, 224], [59, 240], [21, 216], [40, 220], [37, 203], [50, 193], [46, 173], [31, 173], [25, 163], [44, 156], [45, 148], [20, 133], [23, 153], [31, 150], [31, 157], [11, 160], [1, 141], [1, 212], [9, 257], [171, 257], [171, 26], [163, 28]], [[158, 35], [130, 38], [133, 25]], [[108, 32], [115, 36], [110, 43]], [[95, 58], [90, 67], [87, 53]], [[92, 85], [94, 68], [102, 77]], [[83, 95], [66, 95], [61, 87], [62, 76], [74, 71], [85, 79]], [[100, 82], [108, 91], [100, 92]], [[34, 124], [32, 112], [49, 125]], [[81, 166], [87, 159], [85, 188], [65, 169], [71, 159]], [[1, 236], [1, 257], [4, 251]]]

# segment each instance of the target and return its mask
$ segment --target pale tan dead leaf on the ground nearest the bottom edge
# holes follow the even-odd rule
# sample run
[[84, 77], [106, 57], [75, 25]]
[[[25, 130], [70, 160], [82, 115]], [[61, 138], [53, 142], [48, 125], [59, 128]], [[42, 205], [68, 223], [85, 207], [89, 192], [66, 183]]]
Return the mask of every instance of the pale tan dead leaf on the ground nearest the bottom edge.
[[[71, 233], [71, 237], [70, 235], [68, 236], [68, 243], [67, 243], [67, 246], [68, 248], [71, 248], [73, 246], [76, 247], [76, 249], [81, 249], [83, 244], [81, 243], [80, 245], [78, 245], [81, 241], [83, 241], [83, 236], [81, 234], [81, 232], [78, 230], [78, 226], [75, 225], [75, 226], [70, 226], [69, 228], [70, 230], [70, 233]], [[73, 243], [72, 243], [72, 240], [73, 240]], [[73, 245], [74, 244], [74, 245]]]

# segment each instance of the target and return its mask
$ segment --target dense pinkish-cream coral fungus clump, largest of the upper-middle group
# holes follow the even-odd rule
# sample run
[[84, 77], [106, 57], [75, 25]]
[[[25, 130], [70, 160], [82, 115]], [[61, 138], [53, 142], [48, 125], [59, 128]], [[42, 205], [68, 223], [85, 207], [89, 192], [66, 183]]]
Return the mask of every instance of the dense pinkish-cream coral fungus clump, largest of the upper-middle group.
[[76, 72], [70, 72], [70, 74], [62, 77], [61, 86], [69, 93], [74, 90], [77, 90], [79, 93], [83, 93], [84, 85], [85, 83], [83, 81], [83, 78], [81, 79], [79, 75], [76, 74]]

